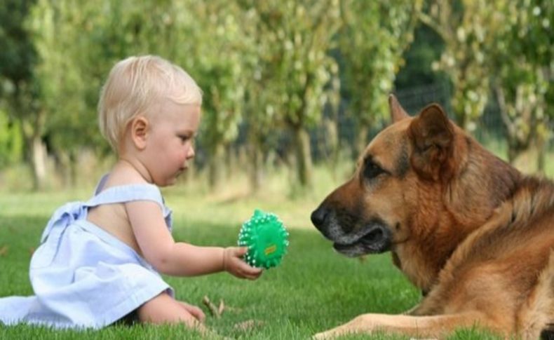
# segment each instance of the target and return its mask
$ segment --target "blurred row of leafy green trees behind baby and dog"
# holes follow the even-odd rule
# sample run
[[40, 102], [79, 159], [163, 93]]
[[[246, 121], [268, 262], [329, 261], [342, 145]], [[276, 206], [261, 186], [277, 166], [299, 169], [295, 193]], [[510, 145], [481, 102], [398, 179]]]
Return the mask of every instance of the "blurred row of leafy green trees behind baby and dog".
[[114, 163], [100, 87], [142, 54], [203, 89], [180, 179], [196, 193], [323, 195], [389, 123], [389, 93], [553, 177], [553, 21], [551, 0], [2, 0], [0, 192], [93, 186]]

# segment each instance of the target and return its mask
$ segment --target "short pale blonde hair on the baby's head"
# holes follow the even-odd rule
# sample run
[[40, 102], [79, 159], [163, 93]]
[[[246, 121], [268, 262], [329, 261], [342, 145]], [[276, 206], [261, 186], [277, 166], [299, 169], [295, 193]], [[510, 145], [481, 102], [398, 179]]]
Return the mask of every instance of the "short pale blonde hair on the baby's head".
[[118, 151], [126, 127], [136, 116], [148, 116], [162, 99], [178, 104], [202, 104], [202, 90], [181, 67], [156, 55], [128, 57], [109, 72], [100, 93], [100, 132]]

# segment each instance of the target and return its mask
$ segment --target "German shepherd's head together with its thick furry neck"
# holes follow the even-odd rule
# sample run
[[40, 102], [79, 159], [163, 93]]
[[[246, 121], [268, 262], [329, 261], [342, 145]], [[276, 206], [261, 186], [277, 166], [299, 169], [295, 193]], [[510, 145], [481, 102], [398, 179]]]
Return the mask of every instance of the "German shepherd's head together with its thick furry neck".
[[414, 117], [393, 96], [389, 106], [393, 123], [311, 221], [346, 256], [391, 250], [396, 266], [428, 290], [459, 243], [513, 194], [520, 174], [438, 104]]

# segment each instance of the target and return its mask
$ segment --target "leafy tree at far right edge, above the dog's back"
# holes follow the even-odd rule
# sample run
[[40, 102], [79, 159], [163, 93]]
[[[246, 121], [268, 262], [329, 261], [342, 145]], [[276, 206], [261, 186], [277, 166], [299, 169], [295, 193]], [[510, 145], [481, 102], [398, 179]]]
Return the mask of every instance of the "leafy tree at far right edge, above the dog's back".
[[508, 161], [513, 162], [534, 145], [539, 150], [538, 170], [544, 167], [544, 146], [554, 118], [549, 79], [554, 75], [552, 1], [496, 1], [499, 20], [496, 32], [492, 86], [506, 126]]

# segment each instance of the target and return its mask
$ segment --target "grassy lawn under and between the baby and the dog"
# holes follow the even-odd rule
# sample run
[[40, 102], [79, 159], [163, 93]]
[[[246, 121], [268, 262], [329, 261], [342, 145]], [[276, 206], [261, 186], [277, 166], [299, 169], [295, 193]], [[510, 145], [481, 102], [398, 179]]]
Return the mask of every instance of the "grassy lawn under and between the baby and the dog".
[[[325, 182], [325, 181], [324, 181]], [[323, 183], [323, 182], [322, 182]], [[362, 313], [401, 313], [417, 304], [419, 292], [391, 263], [390, 255], [360, 261], [332, 250], [309, 224], [309, 212], [334, 184], [326, 181], [313, 196], [291, 200], [276, 195], [271, 184], [265, 193], [244, 196], [240, 189], [196, 196], [194, 186], [165, 191], [175, 214], [174, 236], [196, 245], [234, 245], [238, 229], [253, 208], [278, 214], [290, 230], [290, 248], [283, 264], [259, 280], [239, 280], [227, 273], [197, 278], [166, 277], [177, 298], [201, 306], [206, 325], [236, 339], [308, 339]], [[235, 186], [240, 188], [241, 185]], [[51, 212], [67, 200], [85, 199], [89, 190], [0, 195], [0, 297], [32, 294], [28, 264]], [[235, 308], [216, 319], [201, 303], [223, 299]], [[261, 324], [247, 332], [234, 329], [245, 320]], [[0, 339], [198, 339], [180, 326], [112, 326], [93, 330], [55, 330], [47, 327], [0, 326]], [[484, 339], [491, 335], [468, 329], [452, 339]], [[408, 339], [398, 335], [346, 336], [347, 339]]]

